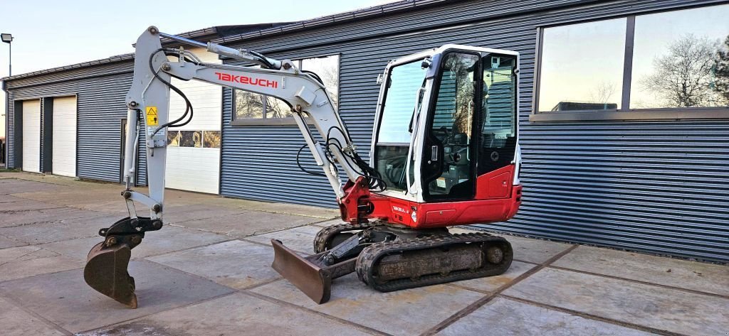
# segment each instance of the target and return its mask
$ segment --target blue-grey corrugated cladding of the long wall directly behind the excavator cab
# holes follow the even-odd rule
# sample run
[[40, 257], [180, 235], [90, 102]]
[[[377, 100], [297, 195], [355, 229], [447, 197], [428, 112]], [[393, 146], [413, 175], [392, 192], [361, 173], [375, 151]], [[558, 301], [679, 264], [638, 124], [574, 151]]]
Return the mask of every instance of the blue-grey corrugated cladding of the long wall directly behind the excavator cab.
[[[446, 43], [516, 50], [523, 204], [514, 219], [484, 228], [729, 261], [727, 121], [529, 123], [537, 27], [726, 1], [582, 1], [555, 7], [576, 2], [457, 2], [235, 45], [273, 57], [340, 53], [340, 112], [364, 156], [378, 97], [375, 80], [388, 60]], [[335, 206], [326, 181], [298, 171], [294, 156], [303, 140], [294, 127], [230, 127], [231, 103], [227, 90], [224, 195]]]

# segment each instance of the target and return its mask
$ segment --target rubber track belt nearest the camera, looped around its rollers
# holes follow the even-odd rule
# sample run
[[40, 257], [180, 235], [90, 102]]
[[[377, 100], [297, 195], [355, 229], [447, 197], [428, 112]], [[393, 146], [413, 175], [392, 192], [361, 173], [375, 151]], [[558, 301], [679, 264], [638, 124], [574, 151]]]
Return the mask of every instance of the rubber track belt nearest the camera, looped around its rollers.
[[[386, 281], [383, 284], [378, 284], [373, 278], [373, 269], [375, 263], [389, 255], [391, 253], [398, 253], [403, 251], [413, 251], [417, 249], [432, 249], [444, 247], [452, 244], [463, 244], [463, 243], [480, 243], [486, 242], [491, 243], [489, 246], [495, 244], [503, 244], [508, 250], [504, 251], [504, 260], [496, 267], [481, 268], [477, 271], [453, 271], [448, 275], [443, 276], [442, 274], [429, 274], [421, 276], [418, 279], [397, 279]], [[484, 247], [483, 249], [488, 249]], [[389, 241], [386, 243], [372, 244], [369, 247], [362, 250], [357, 258], [355, 270], [359, 280], [362, 280], [365, 284], [369, 285], [373, 289], [380, 292], [392, 292], [399, 289], [408, 289], [413, 287], [429, 286], [433, 284], [445, 284], [451, 281], [460, 281], [467, 279], [481, 278], [483, 276], [496, 276], [504, 273], [509, 269], [513, 258], [513, 251], [511, 244], [506, 239], [497, 236], [491, 236], [488, 233], [461, 233], [453, 235], [443, 236], [427, 236], [416, 239], [408, 239], [403, 241]], [[486, 262], [487, 265], [488, 262]]]

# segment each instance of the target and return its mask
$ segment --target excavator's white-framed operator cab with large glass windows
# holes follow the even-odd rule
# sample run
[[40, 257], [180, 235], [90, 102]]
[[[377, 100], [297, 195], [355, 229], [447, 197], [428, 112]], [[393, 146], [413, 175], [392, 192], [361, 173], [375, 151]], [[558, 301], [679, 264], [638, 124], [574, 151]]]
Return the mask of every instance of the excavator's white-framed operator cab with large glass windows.
[[[504, 199], [518, 185], [518, 53], [445, 45], [389, 63], [370, 164], [383, 196]], [[498, 178], [494, 178], [498, 177]]]

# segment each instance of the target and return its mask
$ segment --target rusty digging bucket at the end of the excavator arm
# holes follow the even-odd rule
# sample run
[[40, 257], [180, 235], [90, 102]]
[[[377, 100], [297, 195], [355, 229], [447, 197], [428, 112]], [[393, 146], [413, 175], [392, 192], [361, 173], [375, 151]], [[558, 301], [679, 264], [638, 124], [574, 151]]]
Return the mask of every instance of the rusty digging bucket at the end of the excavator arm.
[[128, 244], [106, 247], [102, 241], [89, 252], [84, 268], [84, 280], [93, 289], [129, 308], [137, 308], [134, 279], [127, 266], [131, 257]]

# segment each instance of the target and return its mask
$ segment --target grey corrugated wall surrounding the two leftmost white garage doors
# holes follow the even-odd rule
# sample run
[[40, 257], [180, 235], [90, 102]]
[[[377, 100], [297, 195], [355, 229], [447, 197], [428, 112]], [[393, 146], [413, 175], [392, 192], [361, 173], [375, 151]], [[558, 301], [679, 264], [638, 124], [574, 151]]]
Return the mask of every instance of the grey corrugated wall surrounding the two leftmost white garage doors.
[[[132, 63], [120, 62], [8, 81], [9, 99], [77, 95], [77, 176], [117, 182], [120, 175], [121, 120], [127, 116], [125, 95], [132, 80]], [[13, 104], [9, 106], [12, 116]], [[8, 123], [8, 167], [15, 164], [13, 119]], [[146, 159], [139, 156], [138, 184], [146, 185]]]

